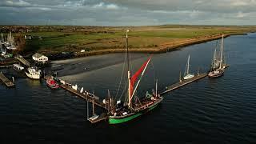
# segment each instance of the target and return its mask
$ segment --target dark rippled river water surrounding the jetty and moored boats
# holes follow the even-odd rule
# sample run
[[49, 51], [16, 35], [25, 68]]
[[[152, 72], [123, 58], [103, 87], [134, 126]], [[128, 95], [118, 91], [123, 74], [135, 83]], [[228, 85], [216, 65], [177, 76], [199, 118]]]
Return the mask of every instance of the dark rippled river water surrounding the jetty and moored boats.
[[[163, 90], [178, 81], [190, 54], [196, 73], [209, 68], [215, 41], [166, 54], [154, 54], [138, 94], [154, 87]], [[161, 142], [250, 143], [256, 141], [256, 34], [224, 40], [230, 67], [222, 78], [203, 78], [164, 95], [160, 106], [134, 121], [110, 126], [86, 121], [86, 102], [64, 90], [50, 90], [46, 82], [16, 78], [16, 88], [0, 86], [0, 130], [3, 143], [10, 142]], [[133, 70], [149, 54], [131, 54]], [[57, 61], [53, 70], [66, 81], [105, 97], [115, 97], [124, 54]], [[86, 67], [86, 70], [84, 69]], [[126, 74], [124, 75], [126, 76]], [[125, 86], [121, 82], [119, 97]], [[122, 96], [123, 98], [124, 96]], [[91, 109], [90, 109], [91, 110]], [[99, 111], [98, 111], [99, 112]]]

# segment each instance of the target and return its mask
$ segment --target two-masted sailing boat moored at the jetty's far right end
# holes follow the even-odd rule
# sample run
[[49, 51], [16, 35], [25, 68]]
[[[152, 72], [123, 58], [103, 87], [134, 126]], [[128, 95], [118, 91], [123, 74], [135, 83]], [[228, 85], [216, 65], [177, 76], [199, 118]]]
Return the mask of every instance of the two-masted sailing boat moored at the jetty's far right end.
[[[222, 58], [222, 53], [223, 53], [223, 34], [222, 34], [222, 46], [221, 46], [221, 51], [220, 51], [220, 60], [214, 60], [213, 64], [212, 64], [212, 68], [208, 74], [208, 78], [218, 78], [221, 77], [224, 74], [224, 70], [225, 70], [225, 66], [223, 65], [223, 58]], [[216, 59], [216, 52], [214, 52], [214, 58]], [[218, 62], [218, 63], [216, 63]], [[216, 68], [216, 66], [218, 66]]]

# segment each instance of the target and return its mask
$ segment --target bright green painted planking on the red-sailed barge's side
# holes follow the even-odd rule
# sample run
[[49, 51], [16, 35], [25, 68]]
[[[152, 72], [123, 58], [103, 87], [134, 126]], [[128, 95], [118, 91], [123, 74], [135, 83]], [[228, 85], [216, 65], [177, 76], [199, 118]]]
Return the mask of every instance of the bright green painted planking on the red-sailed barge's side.
[[[147, 111], [153, 110], [158, 104], [151, 106]], [[123, 123], [123, 122], [128, 122], [134, 118], [137, 118], [138, 116], [142, 115], [144, 113], [138, 112], [137, 114], [131, 115], [130, 117], [126, 118], [109, 118], [109, 123], [110, 124], [118, 124], [118, 123]]]

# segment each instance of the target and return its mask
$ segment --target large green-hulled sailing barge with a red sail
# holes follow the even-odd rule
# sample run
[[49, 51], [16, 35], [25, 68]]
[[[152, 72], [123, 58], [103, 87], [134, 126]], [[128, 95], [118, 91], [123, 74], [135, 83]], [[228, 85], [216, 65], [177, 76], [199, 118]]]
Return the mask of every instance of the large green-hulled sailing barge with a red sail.
[[[123, 122], [128, 122], [134, 118], [139, 117], [142, 114], [146, 114], [146, 112], [153, 110], [160, 102], [162, 102], [162, 96], [158, 94], [157, 90], [157, 82], [156, 82], [156, 90], [154, 94], [146, 94], [145, 98], [138, 98], [138, 96], [134, 96], [136, 90], [138, 89], [139, 83], [142, 79], [143, 74], [146, 71], [146, 67], [150, 62], [150, 58], [144, 62], [144, 64], [140, 67], [140, 69], [131, 74], [130, 71], [130, 62], [129, 62], [129, 50], [128, 50], [128, 33], [129, 30], [126, 31], [126, 58], [127, 58], [127, 74], [128, 74], [128, 89], [127, 89], [127, 101], [128, 102], [117, 102], [117, 105], [114, 106], [110, 110], [109, 114], [109, 123], [110, 124], [118, 124]], [[140, 78], [138, 79], [138, 77]], [[111, 101], [111, 100], [110, 100]], [[110, 102], [111, 103], [111, 102]]]

